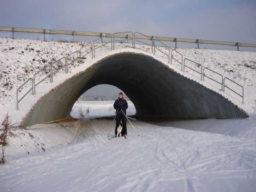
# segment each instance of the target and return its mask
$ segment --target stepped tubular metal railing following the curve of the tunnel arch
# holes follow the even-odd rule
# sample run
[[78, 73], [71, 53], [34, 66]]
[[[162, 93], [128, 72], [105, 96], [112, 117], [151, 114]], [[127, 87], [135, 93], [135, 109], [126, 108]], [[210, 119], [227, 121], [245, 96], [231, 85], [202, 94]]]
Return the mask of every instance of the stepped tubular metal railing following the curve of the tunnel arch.
[[[133, 43], [132, 43], [132, 46], [133, 46], [134, 48], [135, 48], [135, 41], [141, 42], [141, 43], [143, 43], [143, 44], [147, 44], [147, 43], [145, 43], [145, 42], [143, 42], [143, 41], [140, 41], [140, 40], [138, 40], [138, 39], [135, 39], [135, 35], [136, 35], [136, 34], [140, 34], [140, 39], [142, 39], [142, 40], [149, 40], [149, 41], [151, 41], [151, 45], [150, 45], [150, 44], [147, 44], [147, 45], [151, 46], [151, 53], [153, 54], [153, 47], [154, 47], [154, 54], [155, 54], [155, 49], [159, 50], [160, 52], [162, 52], [163, 54], [165, 54], [166, 56], [168, 56], [168, 58], [169, 58], [169, 59], [168, 59], [168, 63], [169, 63], [169, 61], [170, 61], [170, 47], [166, 46], [166, 44], [164, 44], [164, 43], [161, 42], [160, 40], [154, 40], [154, 37], [150, 37], [150, 36], [147, 36], [147, 35], [143, 35], [143, 34], [141, 34], [141, 33], [139, 33], [139, 32], [134, 32], [134, 33], [133, 33], [133, 32], [120, 32], [120, 33], [114, 33], [114, 35], [123, 35], [123, 33], [131, 33], [131, 34], [132, 34], [131, 40], [132, 40], [132, 42], [133, 42]], [[60, 70], [63, 69], [64, 67], [65, 67], [65, 73], [67, 73], [67, 72], [68, 72], [68, 66], [69, 66], [69, 65], [73, 64], [74, 62], [76, 62], [76, 61], [78, 61], [78, 60], [79, 60], [80, 63], [81, 63], [81, 59], [82, 59], [85, 55], [88, 55], [90, 52], [92, 52], [92, 58], [94, 58], [94, 57], [95, 57], [95, 49], [98, 49], [98, 48], [100, 48], [100, 47], [102, 47], [102, 46], [105, 46], [105, 45], [108, 44], [108, 43], [111, 43], [111, 50], [112, 50], [112, 48], [114, 49], [114, 42], [115, 42], [115, 40], [114, 40], [114, 35], [113, 35], [113, 38], [112, 38], [112, 35], [108, 35], [107, 38], [111, 38], [111, 41], [108, 41], [108, 42], [102, 44], [101, 46], [95, 48], [95, 42], [98, 41], [99, 39], [101, 39], [101, 41], [102, 41], [102, 38], [103, 38], [103, 37], [102, 37], [102, 35], [101, 35], [101, 37], [98, 38], [98, 39], [96, 39], [95, 41], [93, 41], [93, 43], [91, 43], [91, 42], [90, 42], [90, 43], [87, 43], [86, 45], [84, 45], [83, 47], [81, 47], [79, 50], [77, 50], [77, 51], [75, 51], [75, 52], [73, 52], [73, 53], [70, 53], [70, 54], [67, 55], [66, 57], [63, 57], [63, 58], [59, 59], [58, 61], [55, 61], [54, 63], [50, 63], [50, 66], [46, 66], [46, 67], [44, 67], [44, 69], [42, 69], [42, 70], [38, 71], [37, 73], [35, 73], [33, 79], [32, 79], [32, 78], [29, 78], [25, 83], [23, 83], [23, 84], [17, 89], [17, 110], [18, 110], [18, 103], [29, 93], [29, 91], [32, 89], [32, 94], [34, 95], [36, 85], [40, 84], [42, 81], [44, 81], [44, 80], [47, 79], [48, 77], [50, 77], [50, 82], [53, 82], [53, 75], [54, 75], [55, 73], [57, 73], [58, 71], [60, 71]], [[124, 37], [120, 37], [120, 36], [119, 36], [118, 38], [124, 38]], [[128, 38], [129, 38], [129, 35], [126, 35], [125, 38], [128, 39]], [[118, 40], [118, 41], [120, 41], [120, 40]], [[121, 40], [121, 41], [122, 41], [122, 40]], [[129, 41], [129, 39], [128, 39], [127, 41]], [[164, 47], [167, 47], [167, 48], [169, 49], [169, 55], [166, 54], [165, 52], [163, 52], [161, 49], [158, 49], [158, 48], [155, 46], [155, 41], [158, 41], [158, 42], [160, 42], [161, 44], [163, 44]], [[102, 42], [102, 43], [103, 43], [103, 42]], [[112, 47], [112, 44], [113, 44], [113, 47]], [[81, 55], [81, 49], [83, 49], [84, 47], [87, 47], [88, 45], [91, 45], [91, 50], [90, 50], [89, 52], [87, 52], [85, 55]], [[173, 52], [173, 51], [177, 52], [175, 49], [172, 49], [172, 52]], [[192, 61], [192, 60], [190, 60], [190, 59], [188, 59], [188, 58], [185, 58], [185, 59], [183, 60], [183, 55], [182, 55], [180, 52], [177, 52], [178, 54], [181, 55], [181, 62], [180, 62], [180, 61], [178, 61], [177, 59], [175, 59], [175, 58], [172, 56], [172, 52], [171, 52], [171, 64], [172, 64], [172, 59], [174, 59], [174, 60], [177, 61], [179, 64], [181, 64], [181, 71], [182, 71], [182, 69], [183, 69], [183, 72], [185, 72], [185, 67], [188, 67], [188, 66], [185, 65], [185, 61], [186, 61], [186, 60], [187, 60], [187, 61], [191, 61], [191, 62], [193, 62], [193, 63], [195, 63], [195, 64], [201, 66], [201, 73], [198, 72], [197, 70], [192, 69], [191, 67], [188, 67], [188, 68], [191, 69], [191, 70], [193, 70], [193, 71], [195, 71], [196, 73], [201, 74], [201, 80], [202, 80], [202, 76], [203, 76], [203, 78], [204, 78], [204, 76], [206, 76], [206, 75], [204, 74], [204, 72], [203, 72], [203, 67], [202, 67], [201, 64], [198, 64], [198, 63], [196, 63], [195, 61]], [[69, 57], [70, 57], [71, 55], [74, 55], [75, 53], [79, 53], [79, 56], [78, 56], [77, 58], [74, 58], [73, 60], [69, 59]], [[57, 70], [53, 71], [53, 70], [52, 70], [52, 65], [55, 64], [55, 63], [57, 63], [57, 62], [61, 62], [61, 60], [63, 60], [63, 59], [65, 59], [65, 64], [64, 64], [64, 66], [62, 66], [62, 67], [58, 68]], [[71, 62], [68, 64], [68, 61], [71, 61]], [[41, 81], [39, 81], [37, 84], [35, 84], [35, 76], [36, 76], [38, 73], [42, 72], [43, 70], [46, 70], [47, 67], [49, 67], [50, 74], [47, 75], [47, 76], [46, 76], [44, 79], [42, 79]], [[219, 73], [217, 73], [217, 72], [215, 72], [215, 71], [213, 71], [213, 70], [211, 70], [211, 69], [209, 69], [209, 68], [207, 68], [207, 67], [205, 67], [204, 70], [210, 70], [210, 71], [212, 71], [213, 73], [216, 73], [216, 74], [218, 74], [218, 75], [221, 76], [221, 78], [222, 78], [222, 82], [221, 82], [221, 83], [218, 82], [218, 81], [216, 81], [215, 79], [212, 79], [212, 78], [206, 76], [207, 78], [211, 79], [212, 81], [215, 81], [215, 82], [221, 84], [221, 90], [222, 90], [222, 87], [223, 87], [223, 89], [224, 89], [224, 87], [227, 87], [227, 86], [225, 86], [225, 83], [223, 83], [223, 76], [222, 76], [221, 74], [219, 74]], [[225, 79], [228, 79], [228, 78], [226, 77], [226, 78], [224, 78], [224, 80], [225, 80]], [[24, 86], [28, 81], [30, 81], [30, 80], [32, 80], [32, 88], [31, 88], [20, 100], [18, 100], [18, 90], [20, 90], [20, 88], [23, 87], [23, 86]], [[229, 79], [229, 80], [232, 81], [231, 79]], [[203, 81], [204, 81], [204, 79], [203, 79]], [[237, 84], [235, 81], [232, 81], [232, 82], [235, 83], [235, 84]], [[222, 86], [222, 84], [223, 84], [223, 86]], [[237, 84], [237, 85], [239, 85], [239, 84]], [[242, 87], [241, 85], [239, 85], [239, 86]], [[227, 88], [230, 89], [229, 87], [227, 87]], [[239, 96], [241, 96], [241, 97], [243, 98], [243, 102], [242, 102], [242, 103], [244, 103], [244, 88], [242, 87], [242, 89], [243, 89], [243, 95], [242, 95], [242, 96], [241, 96], [239, 93], [235, 92], [234, 90], [232, 90], [232, 89], [230, 89], [230, 90], [232, 90], [234, 93], [236, 93], [236, 94], [238, 94]]]

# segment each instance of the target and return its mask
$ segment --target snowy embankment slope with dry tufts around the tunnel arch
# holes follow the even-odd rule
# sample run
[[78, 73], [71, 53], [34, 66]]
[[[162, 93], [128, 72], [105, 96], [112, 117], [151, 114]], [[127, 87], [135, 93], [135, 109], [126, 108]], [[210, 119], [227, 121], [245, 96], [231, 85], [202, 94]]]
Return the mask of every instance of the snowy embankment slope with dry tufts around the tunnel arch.
[[[186, 76], [189, 79], [193, 79], [220, 93], [239, 108], [242, 108], [250, 116], [256, 116], [256, 52], [239, 52], [239, 51], [227, 51], [227, 50], [213, 50], [213, 49], [189, 49], [189, 48], [177, 48], [176, 51], [183, 54], [183, 59], [188, 58], [192, 61], [196, 61], [202, 64], [203, 67], [209, 67], [212, 70], [222, 74], [224, 77], [228, 77], [244, 87], [244, 104], [241, 103], [241, 97], [234, 94], [227, 88], [221, 91], [219, 84], [205, 78], [205, 81], [200, 80], [200, 75], [192, 72], [186, 68], [183, 73], [180, 71], [180, 64], [172, 61], [172, 64], [168, 64], [168, 58], [166, 55], [156, 49], [156, 54], [151, 54], [151, 47], [146, 45], [136, 45], [136, 49], [131, 48], [130, 44], [115, 44], [115, 50], [111, 50], [111, 45], [107, 44], [99, 49], [96, 49], [96, 57], [91, 58], [88, 54], [83, 58], [81, 64], [74, 63], [69, 67], [69, 72], [65, 74], [64, 70], [58, 72], [53, 77], [53, 83], [49, 83], [49, 78], [43, 81], [36, 87], [36, 95], [32, 96], [29, 93], [20, 103], [19, 111], [16, 110], [16, 90], [30, 77], [39, 70], [46, 66], [49, 66], [49, 62], [57, 61], [64, 56], [67, 56], [71, 52], [79, 50], [82, 45], [86, 43], [71, 43], [71, 42], [56, 42], [56, 41], [38, 41], [38, 40], [26, 40], [26, 39], [10, 39], [0, 38], [0, 116], [4, 116], [7, 112], [11, 115], [14, 122], [21, 122], [23, 117], [29, 112], [30, 108], [53, 89], [58, 84], [64, 82], [66, 79], [71, 78], [76, 73], [86, 70], [87, 67], [105, 58], [108, 55], [112, 55], [119, 52], [137, 52], [143, 53], [154, 57], [155, 59], [168, 65], [174, 69], [177, 73]], [[96, 47], [101, 44], [96, 43]], [[158, 47], [163, 52], [168, 53], [168, 49], [164, 47]], [[87, 46], [82, 49], [82, 55], [90, 51], [91, 47]], [[174, 58], [181, 61], [181, 56], [173, 52]], [[70, 59], [77, 58], [78, 54], [74, 54]], [[63, 60], [62, 60], [63, 61]], [[64, 65], [64, 62], [53, 65], [54, 69]], [[186, 61], [186, 65], [193, 67], [200, 71], [200, 66], [193, 64], [190, 61]], [[48, 69], [48, 68], [47, 68]], [[36, 75], [36, 83], [46, 76], [47, 70]], [[207, 76], [221, 81], [220, 77], [216, 74], [212, 74], [206, 71]], [[229, 84], [228, 86], [234, 88], [239, 94], [242, 94], [241, 87], [235, 84]], [[25, 85], [19, 92], [19, 99], [31, 88], [31, 82]], [[125, 90], [124, 90], [125, 91]]]

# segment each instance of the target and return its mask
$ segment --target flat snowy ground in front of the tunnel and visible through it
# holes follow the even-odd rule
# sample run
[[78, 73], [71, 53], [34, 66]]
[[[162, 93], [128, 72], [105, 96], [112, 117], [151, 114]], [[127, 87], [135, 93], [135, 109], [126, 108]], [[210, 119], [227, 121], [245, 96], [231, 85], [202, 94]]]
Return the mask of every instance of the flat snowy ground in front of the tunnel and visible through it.
[[[133, 115], [134, 105], [128, 105]], [[255, 192], [255, 119], [130, 119], [140, 136], [127, 122], [127, 139], [108, 140], [114, 134], [112, 106], [79, 102], [74, 117], [80, 107], [89, 108], [81, 122], [15, 131], [23, 134], [8, 137], [0, 191]]]

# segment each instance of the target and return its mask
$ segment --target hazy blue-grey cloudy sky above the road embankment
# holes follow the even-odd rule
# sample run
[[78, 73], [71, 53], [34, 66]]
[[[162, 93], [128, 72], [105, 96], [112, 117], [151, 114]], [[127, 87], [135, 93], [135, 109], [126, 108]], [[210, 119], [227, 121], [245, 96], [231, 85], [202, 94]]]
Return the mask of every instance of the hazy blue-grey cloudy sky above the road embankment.
[[256, 44], [256, 0], [1, 0], [0, 8], [6, 27]]

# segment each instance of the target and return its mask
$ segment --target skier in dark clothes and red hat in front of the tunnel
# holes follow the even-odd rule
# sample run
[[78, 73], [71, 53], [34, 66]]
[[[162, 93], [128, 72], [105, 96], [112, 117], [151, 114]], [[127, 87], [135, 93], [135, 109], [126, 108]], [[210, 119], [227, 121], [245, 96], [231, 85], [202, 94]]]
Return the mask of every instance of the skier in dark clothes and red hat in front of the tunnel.
[[123, 93], [120, 92], [118, 95], [118, 99], [114, 102], [114, 109], [116, 110], [116, 129], [115, 135], [117, 135], [117, 127], [122, 119], [122, 136], [127, 135], [126, 128], [126, 109], [128, 108], [127, 101], [123, 98]]

